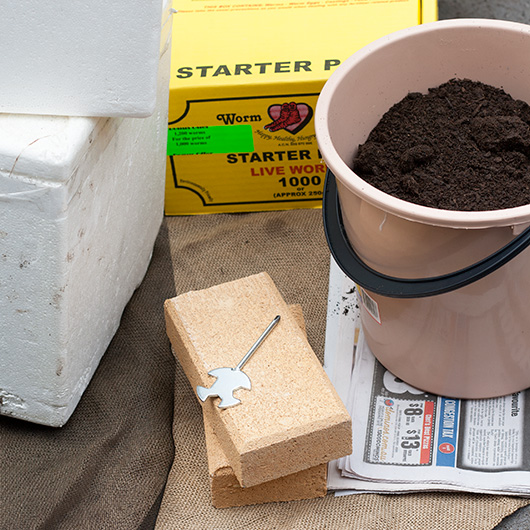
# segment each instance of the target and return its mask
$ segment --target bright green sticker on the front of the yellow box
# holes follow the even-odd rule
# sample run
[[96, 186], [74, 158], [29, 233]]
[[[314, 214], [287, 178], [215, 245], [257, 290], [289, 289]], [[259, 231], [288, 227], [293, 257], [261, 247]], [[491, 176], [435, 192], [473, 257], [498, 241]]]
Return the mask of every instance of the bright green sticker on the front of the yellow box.
[[204, 155], [254, 151], [251, 125], [212, 125], [168, 129], [167, 154]]

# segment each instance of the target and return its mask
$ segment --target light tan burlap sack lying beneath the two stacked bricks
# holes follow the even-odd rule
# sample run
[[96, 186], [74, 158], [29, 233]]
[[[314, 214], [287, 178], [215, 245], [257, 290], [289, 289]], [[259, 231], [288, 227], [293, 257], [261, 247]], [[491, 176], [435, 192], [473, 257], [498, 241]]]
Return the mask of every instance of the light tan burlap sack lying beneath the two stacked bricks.
[[[287, 303], [301, 304], [308, 339], [322, 359], [329, 251], [320, 211], [169, 218], [167, 225], [177, 294], [266, 271]], [[173, 437], [175, 460], [157, 530], [483, 530], [529, 502], [452, 493], [328, 494], [309, 501], [215, 509], [200, 406], [178, 365]]]

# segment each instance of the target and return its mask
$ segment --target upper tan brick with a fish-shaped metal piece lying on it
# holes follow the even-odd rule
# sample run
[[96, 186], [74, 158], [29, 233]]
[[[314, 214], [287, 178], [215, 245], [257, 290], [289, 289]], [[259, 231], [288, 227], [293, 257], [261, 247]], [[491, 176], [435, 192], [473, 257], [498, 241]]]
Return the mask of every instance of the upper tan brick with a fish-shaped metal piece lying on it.
[[238, 406], [201, 403], [239, 484], [252, 487], [351, 453], [351, 418], [271, 278], [260, 273], [165, 303], [167, 333], [193, 389], [235, 367], [276, 315], [245, 365], [252, 389]]

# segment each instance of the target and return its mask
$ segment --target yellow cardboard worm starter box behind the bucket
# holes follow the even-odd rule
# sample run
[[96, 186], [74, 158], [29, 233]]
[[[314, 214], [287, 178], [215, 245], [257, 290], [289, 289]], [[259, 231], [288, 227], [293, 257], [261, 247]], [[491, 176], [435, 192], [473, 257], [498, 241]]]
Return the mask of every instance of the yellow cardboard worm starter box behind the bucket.
[[436, 0], [175, 0], [166, 214], [321, 206], [318, 94]]

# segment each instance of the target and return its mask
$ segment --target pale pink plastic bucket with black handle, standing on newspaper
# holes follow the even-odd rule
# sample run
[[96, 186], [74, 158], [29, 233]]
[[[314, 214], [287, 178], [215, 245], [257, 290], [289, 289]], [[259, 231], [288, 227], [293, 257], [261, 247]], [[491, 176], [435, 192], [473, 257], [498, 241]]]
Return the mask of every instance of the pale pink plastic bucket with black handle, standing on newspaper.
[[455, 77], [530, 102], [530, 26], [433, 22], [383, 37], [337, 68], [315, 113], [338, 190], [337, 200], [330, 175], [324, 217], [328, 232], [330, 219], [340, 232], [328, 233], [333, 255], [364, 286], [362, 325], [379, 361], [432, 393], [493, 397], [530, 386], [530, 205], [438, 210], [387, 195], [350, 169], [394, 103]]

